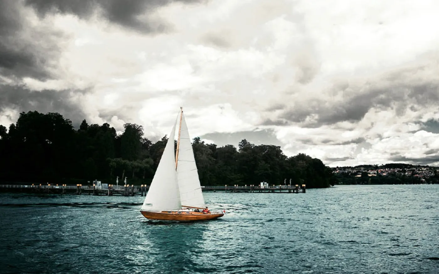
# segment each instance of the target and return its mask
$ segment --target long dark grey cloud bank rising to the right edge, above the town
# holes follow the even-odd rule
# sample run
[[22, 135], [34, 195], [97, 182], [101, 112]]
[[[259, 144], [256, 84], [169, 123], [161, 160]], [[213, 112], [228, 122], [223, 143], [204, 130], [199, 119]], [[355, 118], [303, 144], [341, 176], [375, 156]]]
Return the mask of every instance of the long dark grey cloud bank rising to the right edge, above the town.
[[[356, 123], [371, 108], [392, 108], [396, 115], [401, 116], [408, 109], [432, 106], [439, 101], [439, 82], [435, 76], [429, 79], [423, 75], [432, 69], [431, 65], [404, 68], [374, 79], [373, 84], [338, 83], [332, 87], [330, 94], [338, 95], [342, 100], [331, 101], [322, 96], [293, 102], [291, 108], [277, 115], [277, 119], [266, 119], [263, 125], [279, 126], [291, 122], [316, 128], [344, 121]], [[275, 106], [273, 108], [276, 109]]]

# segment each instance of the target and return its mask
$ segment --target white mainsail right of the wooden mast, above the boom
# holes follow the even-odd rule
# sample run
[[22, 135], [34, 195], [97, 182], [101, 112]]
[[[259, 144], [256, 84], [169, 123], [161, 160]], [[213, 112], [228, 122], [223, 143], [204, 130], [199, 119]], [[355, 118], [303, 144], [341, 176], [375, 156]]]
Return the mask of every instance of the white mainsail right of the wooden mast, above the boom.
[[181, 116], [180, 146], [177, 159], [177, 180], [181, 204], [205, 207], [191, 138], [183, 113]]

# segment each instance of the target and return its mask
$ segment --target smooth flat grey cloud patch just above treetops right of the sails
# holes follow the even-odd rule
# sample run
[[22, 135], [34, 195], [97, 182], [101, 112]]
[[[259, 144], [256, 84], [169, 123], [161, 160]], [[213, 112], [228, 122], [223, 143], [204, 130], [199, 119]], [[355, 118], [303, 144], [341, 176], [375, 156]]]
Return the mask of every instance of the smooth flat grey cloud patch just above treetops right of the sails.
[[253, 131], [238, 131], [234, 133], [219, 133], [212, 132], [200, 136], [202, 139], [212, 140], [216, 145], [223, 146], [226, 144], [233, 144], [237, 146], [242, 139], [246, 139], [250, 143], [259, 144], [274, 144], [282, 145], [276, 137], [273, 130], [253, 130]]

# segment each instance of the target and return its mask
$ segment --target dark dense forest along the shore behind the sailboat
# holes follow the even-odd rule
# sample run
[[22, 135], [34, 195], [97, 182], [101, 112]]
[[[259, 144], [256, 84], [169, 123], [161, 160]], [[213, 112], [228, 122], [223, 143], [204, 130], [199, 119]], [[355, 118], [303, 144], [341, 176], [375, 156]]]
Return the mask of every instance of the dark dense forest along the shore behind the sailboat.
[[[165, 148], [166, 136], [152, 143], [143, 127], [127, 123], [122, 134], [108, 123], [75, 129], [59, 113], [22, 112], [7, 129], [0, 126], [0, 182], [150, 184]], [[306, 184], [329, 187], [337, 179], [320, 159], [305, 154], [287, 157], [281, 147], [254, 145], [245, 139], [238, 148], [218, 147], [193, 139], [194, 156], [202, 185]]]

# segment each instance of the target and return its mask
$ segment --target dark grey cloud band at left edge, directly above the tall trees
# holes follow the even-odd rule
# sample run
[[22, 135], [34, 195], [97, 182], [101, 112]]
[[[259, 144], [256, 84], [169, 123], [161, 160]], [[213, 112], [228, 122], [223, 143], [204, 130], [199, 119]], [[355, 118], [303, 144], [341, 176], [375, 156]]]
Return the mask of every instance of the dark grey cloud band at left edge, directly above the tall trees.
[[0, 113], [7, 108], [19, 112], [38, 111], [42, 113], [58, 112], [73, 123], [80, 123], [86, 115], [79, 105], [71, 98], [76, 93], [85, 93], [86, 90], [42, 90], [32, 91], [24, 87], [0, 85]]

